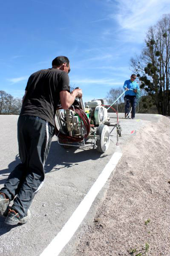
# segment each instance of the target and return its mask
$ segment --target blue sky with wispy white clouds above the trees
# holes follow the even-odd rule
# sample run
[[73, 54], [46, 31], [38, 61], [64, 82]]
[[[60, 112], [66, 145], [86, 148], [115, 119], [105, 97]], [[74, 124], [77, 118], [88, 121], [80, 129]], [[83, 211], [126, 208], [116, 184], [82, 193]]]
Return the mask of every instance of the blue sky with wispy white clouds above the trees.
[[130, 78], [130, 58], [169, 0], [8, 0], [0, 8], [0, 90], [22, 97], [28, 77], [65, 55], [83, 101]]

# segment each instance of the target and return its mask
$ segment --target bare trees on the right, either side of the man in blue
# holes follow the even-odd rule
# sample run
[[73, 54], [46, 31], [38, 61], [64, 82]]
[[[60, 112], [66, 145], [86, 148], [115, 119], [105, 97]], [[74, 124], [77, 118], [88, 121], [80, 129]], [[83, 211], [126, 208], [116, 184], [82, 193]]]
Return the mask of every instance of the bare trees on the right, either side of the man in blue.
[[[170, 14], [163, 15], [148, 29], [144, 42], [141, 55], [130, 59], [130, 69], [141, 88], [139, 113], [170, 116]], [[112, 104], [122, 92], [121, 88], [112, 88], [107, 102]], [[123, 102], [124, 95], [118, 101], [119, 112], [124, 112]]]

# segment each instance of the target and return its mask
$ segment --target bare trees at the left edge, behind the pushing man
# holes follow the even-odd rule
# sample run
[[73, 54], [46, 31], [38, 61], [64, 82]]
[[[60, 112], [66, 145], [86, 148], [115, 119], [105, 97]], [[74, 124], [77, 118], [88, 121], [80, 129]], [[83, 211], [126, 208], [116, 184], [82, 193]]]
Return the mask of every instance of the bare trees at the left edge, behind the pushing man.
[[22, 99], [0, 90], [0, 115], [19, 115]]

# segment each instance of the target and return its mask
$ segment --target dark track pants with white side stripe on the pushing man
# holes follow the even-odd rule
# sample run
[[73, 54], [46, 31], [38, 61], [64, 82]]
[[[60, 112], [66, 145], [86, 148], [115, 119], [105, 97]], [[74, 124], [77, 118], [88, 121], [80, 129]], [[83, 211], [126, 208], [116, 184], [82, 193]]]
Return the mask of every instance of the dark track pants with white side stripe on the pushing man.
[[[55, 127], [37, 116], [19, 116], [17, 123], [21, 163], [9, 175], [0, 192], [10, 200], [12, 209], [23, 218], [44, 182], [44, 164], [49, 153]], [[17, 195], [15, 197], [15, 195]], [[14, 198], [15, 197], [15, 198]]]

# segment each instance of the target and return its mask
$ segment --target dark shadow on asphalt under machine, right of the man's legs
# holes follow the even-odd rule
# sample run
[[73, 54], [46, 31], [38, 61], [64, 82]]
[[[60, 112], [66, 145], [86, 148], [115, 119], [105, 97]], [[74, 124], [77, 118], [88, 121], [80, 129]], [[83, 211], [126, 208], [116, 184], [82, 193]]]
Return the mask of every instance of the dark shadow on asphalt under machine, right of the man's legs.
[[57, 141], [52, 141], [49, 155], [46, 160], [46, 165], [44, 166], [45, 173], [58, 171], [62, 168], [70, 168], [78, 165], [79, 162], [86, 160], [97, 160], [98, 158], [107, 157], [107, 154], [102, 156], [101, 154], [102, 153], [96, 151], [95, 149], [81, 148], [81, 151], [76, 147], [65, 149], [62, 148]]

